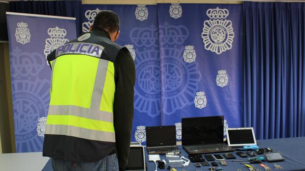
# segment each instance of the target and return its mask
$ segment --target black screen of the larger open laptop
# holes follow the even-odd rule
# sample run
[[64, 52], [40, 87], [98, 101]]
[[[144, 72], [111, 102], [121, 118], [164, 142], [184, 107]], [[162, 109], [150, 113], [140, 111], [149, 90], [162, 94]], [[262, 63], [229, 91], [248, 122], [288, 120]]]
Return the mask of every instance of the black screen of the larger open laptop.
[[182, 145], [223, 142], [223, 116], [183, 118]]

